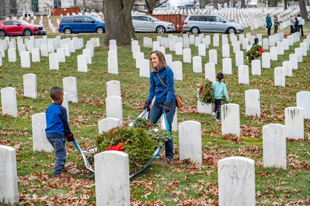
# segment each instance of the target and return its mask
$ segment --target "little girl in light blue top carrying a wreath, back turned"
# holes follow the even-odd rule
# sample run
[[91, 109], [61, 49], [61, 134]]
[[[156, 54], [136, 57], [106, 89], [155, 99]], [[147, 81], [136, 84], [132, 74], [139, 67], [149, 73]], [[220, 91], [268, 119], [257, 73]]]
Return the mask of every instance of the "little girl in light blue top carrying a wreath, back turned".
[[[212, 113], [212, 119], [216, 120], [219, 122], [219, 105], [221, 104], [221, 99], [224, 96], [226, 98], [226, 103], [228, 103], [228, 94], [227, 94], [227, 89], [226, 89], [226, 84], [225, 84], [225, 79], [224, 79], [224, 74], [219, 72], [216, 75], [216, 82], [213, 82], [212, 87], [214, 90], [214, 95], [215, 95], [215, 102], [214, 102], [214, 109]], [[222, 82], [222, 80], [224, 81]], [[217, 114], [215, 113], [217, 112]], [[215, 117], [216, 115], [216, 117]]]

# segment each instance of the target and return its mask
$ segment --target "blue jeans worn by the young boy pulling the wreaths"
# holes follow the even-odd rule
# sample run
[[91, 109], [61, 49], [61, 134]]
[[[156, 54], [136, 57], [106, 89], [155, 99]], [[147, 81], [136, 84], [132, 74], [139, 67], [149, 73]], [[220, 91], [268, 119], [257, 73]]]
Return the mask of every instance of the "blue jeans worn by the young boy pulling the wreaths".
[[60, 174], [62, 172], [62, 167], [64, 166], [64, 163], [66, 163], [66, 139], [65, 138], [56, 138], [56, 137], [48, 137], [47, 141], [51, 143], [51, 145], [55, 149], [55, 166], [53, 173], [54, 174]]

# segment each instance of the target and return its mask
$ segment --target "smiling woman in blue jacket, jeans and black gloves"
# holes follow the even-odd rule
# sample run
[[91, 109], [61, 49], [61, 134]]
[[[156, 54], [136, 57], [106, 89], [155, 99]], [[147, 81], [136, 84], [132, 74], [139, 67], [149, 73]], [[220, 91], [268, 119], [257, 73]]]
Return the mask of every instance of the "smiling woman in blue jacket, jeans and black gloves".
[[[175, 92], [173, 72], [172, 69], [167, 65], [165, 56], [161, 51], [156, 50], [151, 52], [150, 61], [152, 67], [150, 74], [150, 89], [148, 92], [148, 99], [144, 103], [144, 110], [150, 110], [150, 104], [155, 96], [155, 102], [153, 103], [148, 119], [156, 124], [164, 111], [166, 111], [166, 118], [169, 125], [171, 140], [168, 140], [165, 143], [165, 162], [170, 162], [170, 160], [173, 158], [171, 127], [176, 107], [175, 96], [173, 95], [173, 92]], [[159, 78], [162, 80], [162, 82]]]

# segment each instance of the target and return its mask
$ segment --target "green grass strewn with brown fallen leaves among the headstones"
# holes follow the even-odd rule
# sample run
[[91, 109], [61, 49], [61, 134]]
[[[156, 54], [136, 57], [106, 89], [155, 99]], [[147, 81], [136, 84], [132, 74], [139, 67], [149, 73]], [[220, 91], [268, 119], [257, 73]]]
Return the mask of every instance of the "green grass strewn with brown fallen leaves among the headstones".
[[[56, 26], [56, 18], [52, 16], [52, 23]], [[38, 23], [36, 20], [35, 23]], [[47, 28], [47, 19], [43, 20], [48, 37], [56, 35], [64, 37], [78, 36], [84, 38], [84, 45], [91, 37], [99, 37], [104, 42], [104, 34], [73, 34], [64, 35], [51, 33]], [[307, 24], [306, 24], [307, 25]], [[267, 31], [260, 28], [245, 32], [251, 34], [261, 33], [267, 38]], [[279, 31], [282, 32], [282, 31]], [[304, 37], [310, 32], [308, 26], [304, 28]], [[284, 30], [289, 33], [289, 28]], [[175, 34], [182, 36], [182, 34]], [[152, 51], [143, 47], [143, 37], [156, 39], [155, 33], [136, 33], [145, 57]], [[161, 36], [168, 36], [162, 34]], [[216, 73], [222, 71], [221, 37], [218, 50], [218, 65]], [[250, 85], [238, 85], [235, 55], [230, 47], [232, 58], [232, 75], [225, 75], [230, 103], [240, 105], [241, 137], [221, 135], [221, 124], [211, 119], [210, 115], [197, 113], [197, 86], [196, 83], [205, 77], [203, 73], [193, 73], [192, 64], [183, 63], [183, 81], [175, 81], [177, 94], [183, 97], [184, 107], [178, 110], [178, 122], [195, 120], [201, 122], [203, 164], [197, 166], [188, 162], [179, 161], [178, 133], [173, 133], [175, 144], [175, 157], [171, 164], [163, 164], [164, 153], [160, 160], [155, 160], [141, 174], [131, 179], [131, 201], [141, 205], [139, 201], [148, 201], [146, 205], [199, 205], [206, 202], [210, 205], [218, 204], [217, 188], [217, 162], [230, 156], [243, 156], [255, 160], [255, 190], [257, 205], [309, 205], [309, 130], [310, 121], [304, 121], [305, 139], [303, 141], [287, 141], [287, 169], [263, 167], [262, 127], [266, 124], [284, 123], [284, 109], [296, 106], [296, 93], [309, 90], [309, 56], [303, 57], [299, 69], [293, 70], [293, 77], [286, 77], [286, 87], [273, 86], [273, 68], [282, 65], [282, 61], [289, 60], [289, 54], [299, 43], [290, 46], [284, 55], [278, 55], [278, 61], [271, 61], [270, 69], [262, 69], [261, 76], [250, 74]], [[198, 49], [190, 45], [192, 56], [198, 55]], [[209, 49], [212, 49], [212, 44]], [[241, 47], [242, 48], [242, 47]], [[245, 51], [244, 51], [245, 52]], [[86, 149], [95, 145], [98, 135], [98, 120], [105, 118], [106, 82], [118, 80], [121, 82], [123, 119], [129, 122], [139, 111], [148, 95], [148, 78], [139, 77], [139, 69], [135, 68], [132, 59], [131, 47], [117, 49], [119, 74], [108, 74], [108, 49], [95, 48], [93, 64], [88, 65], [89, 72], [82, 73], [77, 70], [77, 50], [65, 63], [60, 63], [60, 70], [49, 70], [47, 57], [41, 57], [41, 62], [31, 62], [31, 68], [20, 67], [20, 57], [17, 62], [8, 62], [7, 56], [3, 58], [3, 67], [0, 68], [0, 88], [15, 87], [17, 98], [18, 118], [0, 115], [0, 144], [15, 147], [17, 160], [19, 205], [78, 205], [95, 204], [94, 174], [84, 169], [81, 156], [72, 143], [66, 143], [67, 166], [69, 166], [69, 179], [59, 181], [51, 179], [55, 154], [53, 152], [33, 152], [32, 149], [32, 122], [31, 115], [45, 112], [51, 104], [49, 89], [52, 86], [62, 87], [62, 78], [76, 77], [78, 87], [78, 103], [69, 103], [70, 127], [81, 148]], [[202, 64], [208, 62], [208, 52], [202, 57]], [[173, 55], [173, 61], [183, 61], [182, 56], [166, 49], [166, 54]], [[308, 52], [309, 55], [309, 52]], [[261, 58], [260, 58], [261, 59]], [[244, 60], [246, 65], [250, 64]], [[23, 74], [37, 75], [38, 99], [23, 96]], [[261, 118], [245, 116], [244, 91], [248, 89], [260, 90]], [[2, 113], [2, 110], [1, 110]], [[304, 161], [304, 163], [303, 163]], [[150, 192], [150, 194], [148, 194]], [[148, 194], [148, 195], [146, 195]], [[145, 196], [146, 195], [146, 196]], [[147, 198], [146, 198], [147, 197]], [[163, 204], [159, 204], [159, 201]], [[186, 201], [190, 202], [187, 203]], [[299, 203], [297, 202], [299, 201]], [[302, 203], [301, 203], [302, 202]], [[202, 204], [202, 203], [201, 203]]]

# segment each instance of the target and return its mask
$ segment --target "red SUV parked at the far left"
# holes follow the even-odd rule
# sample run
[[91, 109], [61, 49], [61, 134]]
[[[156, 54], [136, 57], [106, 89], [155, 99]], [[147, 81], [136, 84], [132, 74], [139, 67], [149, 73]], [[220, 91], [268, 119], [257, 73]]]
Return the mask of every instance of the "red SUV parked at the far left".
[[24, 20], [7, 20], [0, 22], [0, 37], [5, 36], [46, 35], [43, 27], [30, 24]]

